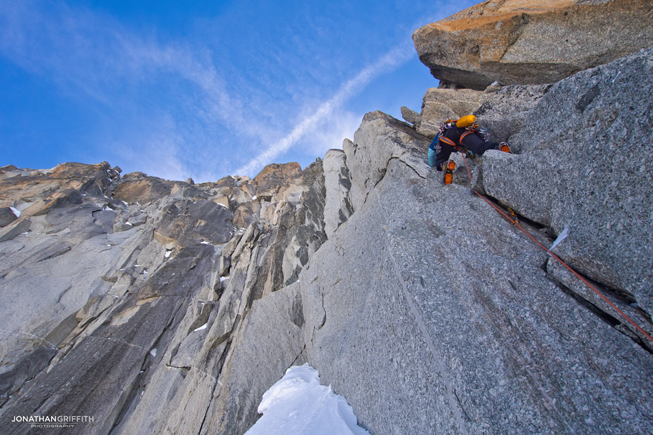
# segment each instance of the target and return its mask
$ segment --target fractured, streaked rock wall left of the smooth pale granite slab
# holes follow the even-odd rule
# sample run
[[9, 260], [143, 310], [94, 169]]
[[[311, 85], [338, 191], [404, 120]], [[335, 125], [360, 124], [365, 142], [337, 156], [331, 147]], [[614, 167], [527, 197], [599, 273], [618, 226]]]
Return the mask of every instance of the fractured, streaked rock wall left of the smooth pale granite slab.
[[[322, 161], [195, 185], [113, 174], [108, 164], [3, 168], [0, 194], [23, 213], [1, 229], [0, 418], [81, 413], [93, 424], [60, 433], [155, 433], [153, 419], [162, 432], [197, 432], [245, 313], [298, 280], [327, 238]], [[62, 191], [76, 201], [56, 202]], [[329, 201], [346, 220], [344, 200]], [[243, 206], [246, 227], [232, 212]], [[162, 394], [172, 402], [162, 405]], [[230, 397], [216, 412], [240, 412]], [[171, 412], [181, 400], [186, 419]]]

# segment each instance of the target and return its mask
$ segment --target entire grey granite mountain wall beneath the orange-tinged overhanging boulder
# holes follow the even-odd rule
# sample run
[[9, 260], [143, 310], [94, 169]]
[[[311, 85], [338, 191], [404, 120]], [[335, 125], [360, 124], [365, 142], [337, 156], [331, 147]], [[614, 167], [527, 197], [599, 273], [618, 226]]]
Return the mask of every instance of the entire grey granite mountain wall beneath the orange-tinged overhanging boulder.
[[[0, 168], [3, 433], [243, 434], [307, 362], [372, 434], [649, 434], [653, 341], [610, 304], [653, 334], [652, 65], [439, 89], [516, 152], [471, 181], [455, 155], [448, 186], [429, 133], [378, 111], [254, 179]], [[542, 245], [566, 227], [554, 252], [610, 304], [480, 194]]]

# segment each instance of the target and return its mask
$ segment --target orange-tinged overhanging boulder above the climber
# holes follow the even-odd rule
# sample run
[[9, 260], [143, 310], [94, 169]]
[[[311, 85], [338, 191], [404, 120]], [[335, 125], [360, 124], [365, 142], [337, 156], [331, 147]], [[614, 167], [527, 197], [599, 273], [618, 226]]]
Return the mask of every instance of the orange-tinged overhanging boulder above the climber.
[[553, 83], [653, 45], [648, 0], [484, 1], [412, 36], [445, 82], [483, 91]]

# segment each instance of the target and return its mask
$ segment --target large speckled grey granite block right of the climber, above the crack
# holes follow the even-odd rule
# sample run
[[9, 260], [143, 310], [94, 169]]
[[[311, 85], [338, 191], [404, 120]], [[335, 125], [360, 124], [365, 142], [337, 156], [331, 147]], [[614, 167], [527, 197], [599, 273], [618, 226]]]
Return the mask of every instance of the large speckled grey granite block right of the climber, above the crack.
[[555, 234], [568, 227], [556, 252], [649, 311], [652, 65], [646, 49], [558, 82], [513, 135], [518, 155], [483, 163], [489, 194]]

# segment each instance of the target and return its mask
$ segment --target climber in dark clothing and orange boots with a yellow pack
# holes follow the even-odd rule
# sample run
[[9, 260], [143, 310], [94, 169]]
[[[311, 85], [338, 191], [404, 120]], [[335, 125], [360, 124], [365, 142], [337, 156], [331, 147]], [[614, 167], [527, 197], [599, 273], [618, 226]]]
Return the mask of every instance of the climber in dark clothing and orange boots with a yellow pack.
[[450, 158], [451, 153], [460, 151], [475, 157], [487, 150], [502, 150], [510, 153], [506, 142], [487, 142], [487, 133], [480, 129], [476, 116], [467, 115], [459, 120], [447, 120], [440, 127], [433, 142], [428, 147], [428, 164], [437, 170], [443, 170], [443, 181], [450, 184], [456, 164]]

